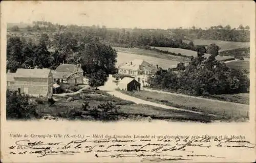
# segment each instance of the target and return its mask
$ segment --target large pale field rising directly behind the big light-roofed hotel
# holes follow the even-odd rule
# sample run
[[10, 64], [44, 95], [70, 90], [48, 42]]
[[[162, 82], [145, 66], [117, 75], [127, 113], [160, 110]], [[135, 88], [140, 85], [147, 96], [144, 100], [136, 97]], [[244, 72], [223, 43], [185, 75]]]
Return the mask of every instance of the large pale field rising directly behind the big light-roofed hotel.
[[167, 55], [151, 50], [139, 48], [119, 48], [114, 47], [117, 51], [117, 66], [134, 59], [143, 59], [163, 69], [175, 68], [179, 62], [185, 62], [187, 59], [179, 56]]

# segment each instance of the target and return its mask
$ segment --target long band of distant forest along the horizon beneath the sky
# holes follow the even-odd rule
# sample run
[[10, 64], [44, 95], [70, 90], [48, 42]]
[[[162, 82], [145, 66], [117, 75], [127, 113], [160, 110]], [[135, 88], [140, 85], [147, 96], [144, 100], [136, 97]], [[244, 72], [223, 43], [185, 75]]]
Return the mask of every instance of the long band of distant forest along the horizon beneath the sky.
[[193, 39], [212, 39], [223, 41], [249, 42], [249, 26], [240, 25], [237, 29], [231, 29], [230, 25], [223, 27], [222, 25], [211, 26], [209, 29], [201, 29], [192, 26], [190, 29], [110, 29], [106, 26], [78, 26], [78, 25], [59, 25], [47, 21], [35, 21], [33, 25], [27, 25], [20, 28], [17, 25], [10, 26], [9, 31], [12, 32], [72, 32], [78, 37], [86, 38], [90, 41], [93, 38], [126, 47], [134, 46], [162, 46], [191, 49], [188, 44], [182, 40]]

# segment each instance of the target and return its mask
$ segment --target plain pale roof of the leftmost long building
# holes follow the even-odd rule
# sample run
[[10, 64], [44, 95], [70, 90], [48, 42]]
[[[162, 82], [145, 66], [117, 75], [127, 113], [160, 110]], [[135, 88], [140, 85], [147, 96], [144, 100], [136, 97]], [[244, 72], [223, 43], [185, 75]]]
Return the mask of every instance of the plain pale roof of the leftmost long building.
[[19, 68], [15, 72], [14, 77], [34, 77], [34, 78], [48, 78], [50, 69], [23, 69]]

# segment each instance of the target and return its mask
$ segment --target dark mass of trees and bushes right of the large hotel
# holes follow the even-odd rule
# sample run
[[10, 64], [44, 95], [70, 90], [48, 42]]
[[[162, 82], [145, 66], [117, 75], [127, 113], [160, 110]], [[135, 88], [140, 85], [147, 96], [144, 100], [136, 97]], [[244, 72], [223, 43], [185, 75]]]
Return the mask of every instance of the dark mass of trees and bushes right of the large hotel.
[[179, 63], [176, 69], [159, 69], [150, 78], [151, 87], [205, 96], [248, 92], [249, 79], [242, 71], [217, 61], [218, 51], [217, 45], [210, 44], [207, 47], [208, 58], [204, 57], [204, 50], [198, 49], [198, 57], [192, 57], [187, 66]]

